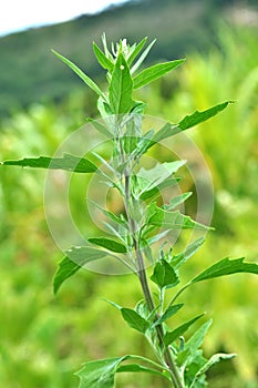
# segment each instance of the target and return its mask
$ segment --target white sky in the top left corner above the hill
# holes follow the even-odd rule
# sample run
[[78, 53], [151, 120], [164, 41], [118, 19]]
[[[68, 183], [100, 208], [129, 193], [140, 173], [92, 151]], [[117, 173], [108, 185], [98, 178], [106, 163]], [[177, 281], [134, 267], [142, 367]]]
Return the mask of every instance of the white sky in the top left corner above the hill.
[[128, 0], [7, 0], [0, 6], [0, 35], [95, 13]]

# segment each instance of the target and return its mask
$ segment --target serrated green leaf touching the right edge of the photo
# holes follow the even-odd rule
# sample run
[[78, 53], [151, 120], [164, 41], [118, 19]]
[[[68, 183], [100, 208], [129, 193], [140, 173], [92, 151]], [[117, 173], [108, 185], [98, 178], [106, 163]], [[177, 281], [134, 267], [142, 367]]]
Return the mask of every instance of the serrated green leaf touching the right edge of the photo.
[[206, 279], [211, 279], [218, 276], [231, 275], [237, 273], [249, 273], [258, 274], [258, 264], [256, 263], [244, 263], [245, 257], [229, 259], [228, 257], [215, 263], [209, 268], [205, 269], [202, 274], [194, 277], [190, 284], [203, 282]]

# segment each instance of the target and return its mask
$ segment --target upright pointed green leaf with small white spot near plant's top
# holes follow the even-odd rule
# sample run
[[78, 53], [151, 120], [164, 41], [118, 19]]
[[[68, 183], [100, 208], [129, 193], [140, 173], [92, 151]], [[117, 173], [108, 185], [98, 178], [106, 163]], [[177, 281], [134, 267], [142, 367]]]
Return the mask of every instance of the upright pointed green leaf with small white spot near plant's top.
[[114, 114], [128, 113], [133, 106], [133, 80], [122, 53], [118, 54], [109, 88], [110, 105]]

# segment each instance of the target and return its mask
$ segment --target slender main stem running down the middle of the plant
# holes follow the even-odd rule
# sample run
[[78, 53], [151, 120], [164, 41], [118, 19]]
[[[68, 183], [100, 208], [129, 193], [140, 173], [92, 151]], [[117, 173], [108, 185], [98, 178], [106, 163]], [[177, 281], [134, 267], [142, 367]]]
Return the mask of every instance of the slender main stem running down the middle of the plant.
[[[130, 225], [130, 229], [132, 233], [132, 238], [133, 238], [133, 245], [134, 245], [134, 251], [135, 251], [135, 256], [136, 256], [136, 265], [137, 265], [137, 276], [142, 286], [142, 290], [144, 294], [144, 298], [147, 305], [147, 308], [149, 310], [149, 313], [155, 310], [155, 304], [153, 300], [153, 296], [152, 296], [152, 292], [148, 285], [148, 280], [147, 280], [147, 275], [146, 275], [146, 270], [145, 270], [145, 266], [144, 266], [144, 258], [143, 258], [143, 254], [141, 251], [141, 247], [138, 245], [138, 241], [135, 236], [136, 234], [136, 226], [135, 226], [135, 222], [134, 219], [131, 217], [130, 215], [130, 211], [128, 211], [128, 202], [130, 202], [130, 197], [131, 197], [131, 183], [130, 183], [130, 174], [126, 171], [124, 174], [124, 186], [125, 186], [125, 212], [127, 215], [127, 219], [128, 219], [128, 225]], [[158, 319], [158, 315], [156, 314], [156, 319]], [[164, 351], [164, 360], [165, 360], [165, 365], [166, 367], [169, 369], [169, 374], [171, 374], [171, 378], [173, 381], [173, 385], [175, 388], [184, 388], [184, 385], [182, 382], [180, 376], [179, 376], [179, 371], [177, 369], [177, 366], [172, 357], [171, 350], [168, 346], [165, 346], [164, 344], [164, 328], [163, 325], [157, 325], [155, 327], [156, 329], [156, 335], [159, 341], [159, 346]]]

